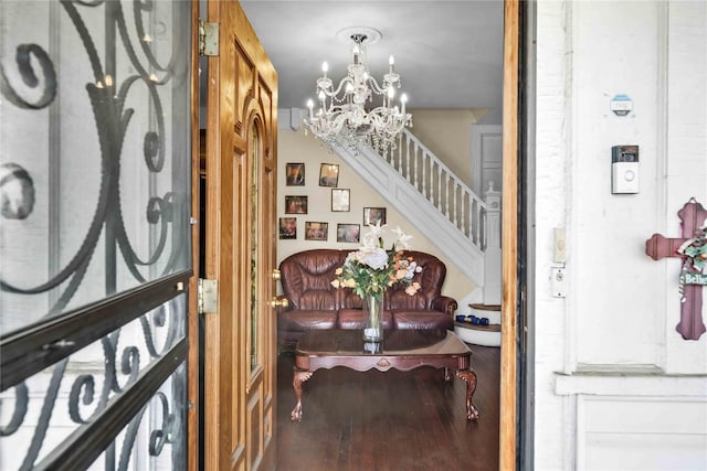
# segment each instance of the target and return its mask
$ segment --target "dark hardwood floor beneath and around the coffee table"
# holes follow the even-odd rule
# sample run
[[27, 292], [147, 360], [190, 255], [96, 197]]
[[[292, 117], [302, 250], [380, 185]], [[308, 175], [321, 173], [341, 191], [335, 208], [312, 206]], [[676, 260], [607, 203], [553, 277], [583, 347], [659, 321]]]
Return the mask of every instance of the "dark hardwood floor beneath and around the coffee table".
[[465, 414], [466, 384], [442, 370], [365, 373], [318, 370], [293, 422], [292, 353], [278, 358], [277, 470], [497, 470], [499, 349], [471, 345], [478, 420]]

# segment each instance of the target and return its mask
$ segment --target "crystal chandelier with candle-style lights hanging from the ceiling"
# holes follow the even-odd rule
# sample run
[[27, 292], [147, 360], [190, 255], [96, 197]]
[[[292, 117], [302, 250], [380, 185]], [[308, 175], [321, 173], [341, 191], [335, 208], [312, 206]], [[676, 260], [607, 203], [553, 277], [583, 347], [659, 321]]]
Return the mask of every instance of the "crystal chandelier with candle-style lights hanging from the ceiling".
[[363, 41], [367, 35], [351, 34], [351, 63], [348, 75], [334, 88], [327, 76], [328, 64], [321, 65], [323, 75], [317, 79], [318, 108], [308, 100], [306, 127], [327, 144], [345, 144], [355, 150], [367, 143], [380, 153], [395, 148], [395, 138], [405, 126], [412, 126], [412, 115], [405, 113], [408, 97], [402, 94], [400, 108], [395, 105], [395, 88], [400, 88], [400, 76], [395, 73], [393, 56], [388, 61], [389, 69], [379, 85], [371, 77], [366, 63]]

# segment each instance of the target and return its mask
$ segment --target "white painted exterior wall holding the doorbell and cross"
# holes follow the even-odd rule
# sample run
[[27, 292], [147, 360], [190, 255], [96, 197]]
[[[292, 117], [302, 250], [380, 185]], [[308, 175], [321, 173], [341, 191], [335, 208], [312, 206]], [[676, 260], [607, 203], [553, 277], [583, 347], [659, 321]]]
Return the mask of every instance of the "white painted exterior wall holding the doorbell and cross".
[[[540, 1], [536, 66], [535, 467], [705, 469], [707, 334], [675, 332], [680, 264], [644, 250], [679, 237], [692, 196], [707, 204], [707, 3]], [[624, 143], [640, 146], [639, 194], [611, 193]], [[566, 298], [550, 291], [555, 227]]]

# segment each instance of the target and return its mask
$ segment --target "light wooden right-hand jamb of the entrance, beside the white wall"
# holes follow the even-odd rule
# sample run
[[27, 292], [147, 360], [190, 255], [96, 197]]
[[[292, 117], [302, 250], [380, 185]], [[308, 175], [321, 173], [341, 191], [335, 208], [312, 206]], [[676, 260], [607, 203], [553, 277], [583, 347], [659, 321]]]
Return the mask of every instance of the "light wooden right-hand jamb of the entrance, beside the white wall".
[[519, 0], [504, 3], [500, 425], [498, 469], [515, 470], [518, 375], [518, 46]]

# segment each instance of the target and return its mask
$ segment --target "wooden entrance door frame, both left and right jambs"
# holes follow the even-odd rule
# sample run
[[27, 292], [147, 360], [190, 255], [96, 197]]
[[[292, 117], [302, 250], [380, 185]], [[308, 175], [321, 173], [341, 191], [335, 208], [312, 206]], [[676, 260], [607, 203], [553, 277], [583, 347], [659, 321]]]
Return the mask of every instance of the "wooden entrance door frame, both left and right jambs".
[[[198, 44], [199, 2], [194, 2], [192, 41]], [[502, 217], [502, 332], [500, 345], [500, 424], [499, 469], [515, 470], [518, 462], [518, 322], [519, 274], [518, 274], [518, 159], [519, 159], [519, 0], [504, 2], [504, 101], [503, 101], [503, 217]], [[192, 47], [192, 215], [199, 214], [199, 55]], [[189, 297], [189, 453], [188, 468], [197, 470], [199, 463], [199, 410], [198, 400], [198, 321], [197, 280], [199, 267], [199, 226], [192, 225], [192, 258], [194, 276], [190, 280]]]

